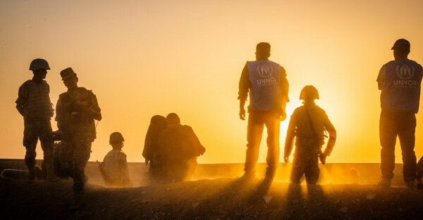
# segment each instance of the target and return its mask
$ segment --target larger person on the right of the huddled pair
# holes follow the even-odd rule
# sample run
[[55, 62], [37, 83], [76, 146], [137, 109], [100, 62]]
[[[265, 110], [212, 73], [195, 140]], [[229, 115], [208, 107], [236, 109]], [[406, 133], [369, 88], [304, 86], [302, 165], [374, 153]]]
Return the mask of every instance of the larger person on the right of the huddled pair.
[[168, 114], [166, 123], [157, 153], [164, 169], [164, 183], [188, 181], [197, 167], [197, 157], [206, 149], [190, 126], [180, 124], [177, 114]]

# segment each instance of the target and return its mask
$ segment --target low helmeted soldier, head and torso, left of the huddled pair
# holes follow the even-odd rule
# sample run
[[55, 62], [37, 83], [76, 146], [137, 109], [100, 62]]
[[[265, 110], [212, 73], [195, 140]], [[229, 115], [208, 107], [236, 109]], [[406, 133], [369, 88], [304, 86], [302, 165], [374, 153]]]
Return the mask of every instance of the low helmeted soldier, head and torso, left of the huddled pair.
[[107, 186], [131, 187], [126, 154], [122, 151], [123, 136], [121, 133], [111, 133], [109, 144], [113, 149], [106, 154], [101, 165], [104, 171], [104, 181]]

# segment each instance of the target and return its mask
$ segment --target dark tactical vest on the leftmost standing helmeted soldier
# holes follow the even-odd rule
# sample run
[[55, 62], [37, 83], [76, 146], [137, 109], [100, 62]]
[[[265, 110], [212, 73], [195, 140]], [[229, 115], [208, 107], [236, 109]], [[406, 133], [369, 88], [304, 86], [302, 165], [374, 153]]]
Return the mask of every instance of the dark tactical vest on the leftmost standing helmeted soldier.
[[27, 80], [24, 83], [27, 87], [28, 96], [23, 108], [25, 120], [46, 119], [53, 116], [53, 106], [50, 101], [50, 87], [46, 81], [37, 83]]

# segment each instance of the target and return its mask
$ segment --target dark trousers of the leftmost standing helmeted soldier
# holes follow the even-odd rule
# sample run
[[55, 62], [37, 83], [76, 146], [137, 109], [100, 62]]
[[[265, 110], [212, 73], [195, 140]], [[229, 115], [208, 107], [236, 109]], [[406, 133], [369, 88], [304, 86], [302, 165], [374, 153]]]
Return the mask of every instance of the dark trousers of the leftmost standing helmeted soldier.
[[42, 152], [44, 154], [44, 163], [53, 162], [53, 143], [51, 140], [51, 122], [50, 119], [44, 120], [32, 120], [24, 122], [23, 130], [23, 146], [26, 148], [25, 152], [25, 164], [28, 169], [34, 168], [37, 157], [35, 151], [38, 143], [41, 142]]

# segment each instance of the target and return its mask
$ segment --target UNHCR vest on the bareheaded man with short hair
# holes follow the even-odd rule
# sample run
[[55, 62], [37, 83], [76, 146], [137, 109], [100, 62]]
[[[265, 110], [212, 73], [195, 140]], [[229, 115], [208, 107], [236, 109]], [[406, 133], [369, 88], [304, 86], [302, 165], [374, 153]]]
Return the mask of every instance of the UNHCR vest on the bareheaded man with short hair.
[[251, 82], [249, 109], [280, 110], [282, 101], [281, 66], [268, 60], [247, 62]]

